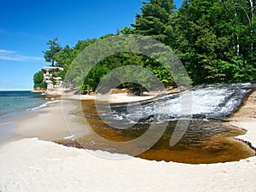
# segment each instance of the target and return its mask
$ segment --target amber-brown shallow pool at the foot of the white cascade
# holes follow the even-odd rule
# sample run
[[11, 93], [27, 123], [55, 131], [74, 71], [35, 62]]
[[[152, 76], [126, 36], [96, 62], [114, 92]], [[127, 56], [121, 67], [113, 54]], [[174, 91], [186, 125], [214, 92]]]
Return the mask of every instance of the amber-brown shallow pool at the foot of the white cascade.
[[[58, 141], [67, 146], [103, 150], [110, 153], [125, 153], [119, 145], [104, 141], [126, 142], [143, 135], [148, 130], [148, 123], [133, 125], [129, 129], [113, 129], [99, 118], [93, 101], [81, 102], [84, 117], [93, 131], [76, 138], [76, 141]], [[183, 120], [188, 123], [188, 120]], [[111, 124], [111, 121], [108, 123]], [[253, 156], [255, 152], [247, 144], [236, 141], [233, 137], [244, 134], [245, 131], [227, 127], [221, 120], [190, 119], [189, 127], [182, 139], [170, 146], [170, 139], [177, 120], [169, 121], [165, 133], [152, 148], [148, 148], [137, 157], [146, 160], [166, 160], [189, 164], [217, 163], [241, 160]], [[99, 139], [101, 136], [104, 139]], [[147, 137], [150, 142], [150, 137]], [[130, 146], [130, 151], [139, 146]], [[129, 151], [129, 150], [128, 150]]]

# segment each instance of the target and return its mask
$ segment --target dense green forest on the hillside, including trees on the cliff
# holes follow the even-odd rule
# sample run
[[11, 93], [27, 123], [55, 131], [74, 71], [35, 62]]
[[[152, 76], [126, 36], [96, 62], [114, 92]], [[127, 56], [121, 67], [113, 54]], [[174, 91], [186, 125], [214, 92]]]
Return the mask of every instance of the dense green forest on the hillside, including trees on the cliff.
[[[137, 34], [160, 41], [177, 55], [186, 68], [191, 84], [250, 82], [256, 79], [255, 0], [183, 0], [176, 8], [173, 0], [144, 2], [135, 23], [117, 29], [116, 34], [79, 40], [71, 48], [61, 47], [58, 38], [49, 40], [43, 51], [51, 66], [68, 67], [79, 53], [96, 42], [121, 35]], [[145, 55], [119, 53], [99, 61], [82, 79], [79, 91], [95, 90], [113, 68], [137, 65], [146, 67], [166, 85], [175, 84], [172, 74], [159, 61]], [[34, 75], [34, 86], [42, 85], [42, 72]], [[73, 83], [81, 79], [73, 79]], [[147, 79], [144, 79], [147, 81]], [[71, 82], [72, 83], [72, 82]], [[135, 84], [121, 84], [120, 88]]]

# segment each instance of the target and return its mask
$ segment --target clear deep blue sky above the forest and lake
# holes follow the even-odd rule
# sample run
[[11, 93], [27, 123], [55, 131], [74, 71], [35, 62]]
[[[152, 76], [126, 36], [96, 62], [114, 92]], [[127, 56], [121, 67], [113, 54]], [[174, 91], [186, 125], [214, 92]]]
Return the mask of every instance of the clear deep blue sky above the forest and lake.
[[[147, 0], [145, 2], [148, 2]], [[179, 7], [182, 0], [175, 0]], [[141, 0], [0, 0], [0, 90], [32, 90], [46, 44], [61, 47], [131, 26]]]

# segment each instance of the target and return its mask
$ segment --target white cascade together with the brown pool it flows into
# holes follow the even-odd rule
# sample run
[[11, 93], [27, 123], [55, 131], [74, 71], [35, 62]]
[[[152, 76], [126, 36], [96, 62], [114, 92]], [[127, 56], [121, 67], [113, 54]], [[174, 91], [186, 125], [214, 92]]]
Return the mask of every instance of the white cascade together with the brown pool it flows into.
[[[143, 136], [153, 123], [154, 129], [166, 124], [160, 139], [137, 157], [146, 160], [166, 160], [190, 164], [241, 160], [255, 151], [233, 137], [245, 134], [223, 124], [223, 119], [236, 112], [255, 84], [214, 84], [195, 87], [181, 94], [160, 96], [146, 102], [108, 106], [93, 101], [81, 102], [83, 115], [92, 131], [76, 140], [59, 141], [68, 146], [132, 154], [143, 146], [119, 147]], [[177, 129], [177, 125], [186, 129]], [[89, 132], [89, 133], [88, 133]], [[100, 136], [100, 137], [99, 137]], [[170, 145], [172, 138], [177, 143]], [[104, 138], [104, 139], [102, 139]], [[150, 143], [149, 136], [143, 143]], [[110, 142], [108, 142], [110, 141]]]

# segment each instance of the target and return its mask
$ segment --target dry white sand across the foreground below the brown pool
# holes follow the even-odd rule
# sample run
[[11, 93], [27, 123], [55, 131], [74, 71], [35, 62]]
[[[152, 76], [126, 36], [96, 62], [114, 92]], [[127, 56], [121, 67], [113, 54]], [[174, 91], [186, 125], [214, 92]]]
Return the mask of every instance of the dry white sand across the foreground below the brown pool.
[[106, 160], [84, 149], [25, 139], [1, 148], [4, 191], [255, 191], [256, 158], [184, 165]]

